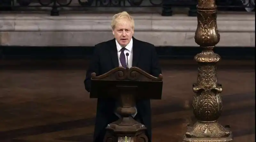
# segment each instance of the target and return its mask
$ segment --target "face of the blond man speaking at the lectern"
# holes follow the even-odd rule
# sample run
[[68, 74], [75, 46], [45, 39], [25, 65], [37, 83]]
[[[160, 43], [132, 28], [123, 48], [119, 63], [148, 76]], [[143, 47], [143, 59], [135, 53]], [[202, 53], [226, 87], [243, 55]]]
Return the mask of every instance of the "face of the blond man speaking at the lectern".
[[126, 19], [120, 21], [113, 30], [115, 39], [123, 47], [129, 44], [132, 39], [133, 33], [134, 31], [132, 29], [131, 23]]

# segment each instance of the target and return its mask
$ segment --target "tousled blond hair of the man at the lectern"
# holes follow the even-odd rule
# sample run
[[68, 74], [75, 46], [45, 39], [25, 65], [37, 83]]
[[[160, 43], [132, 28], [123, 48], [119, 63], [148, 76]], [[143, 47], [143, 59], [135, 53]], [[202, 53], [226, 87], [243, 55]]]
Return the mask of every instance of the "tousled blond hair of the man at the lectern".
[[114, 30], [116, 25], [118, 23], [120, 23], [120, 21], [123, 19], [128, 20], [132, 26], [132, 29], [134, 30], [134, 20], [133, 20], [132, 16], [129, 13], [127, 13], [126, 11], [117, 13], [113, 16], [112, 22], [111, 22], [112, 29]]

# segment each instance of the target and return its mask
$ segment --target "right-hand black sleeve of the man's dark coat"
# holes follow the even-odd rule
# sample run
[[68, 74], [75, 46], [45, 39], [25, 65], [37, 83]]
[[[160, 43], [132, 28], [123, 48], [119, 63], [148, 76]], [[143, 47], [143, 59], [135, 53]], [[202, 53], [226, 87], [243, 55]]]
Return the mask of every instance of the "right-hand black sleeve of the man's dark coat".
[[158, 77], [162, 74], [161, 67], [159, 65], [158, 55], [156, 53], [156, 47], [152, 45], [151, 48], [151, 75]]

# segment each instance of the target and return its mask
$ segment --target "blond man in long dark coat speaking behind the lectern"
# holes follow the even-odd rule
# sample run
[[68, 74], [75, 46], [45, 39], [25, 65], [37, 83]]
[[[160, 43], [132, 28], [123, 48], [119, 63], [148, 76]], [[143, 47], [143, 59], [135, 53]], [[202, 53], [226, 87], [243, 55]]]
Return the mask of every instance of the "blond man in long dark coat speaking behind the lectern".
[[[91, 73], [102, 75], [118, 66], [139, 67], [147, 73], [158, 77], [161, 69], [158, 63], [155, 46], [137, 40], [133, 37], [134, 20], [127, 12], [121, 12], [113, 16], [112, 32], [114, 39], [99, 43], [94, 47], [94, 54], [84, 80], [85, 89], [90, 92]], [[129, 53], [128, 56], [125, 54]], [[145, 124], [147, 136], [151, 141], [151, 109], [150, 100], [136, 102], [137, 112], [134, 119]], [[115, 113], [116, 100], [98, 99], [96, 124], [94, 130], [94, 142], [102, 142], [105, 135], [105, 127], [118, 120]]]

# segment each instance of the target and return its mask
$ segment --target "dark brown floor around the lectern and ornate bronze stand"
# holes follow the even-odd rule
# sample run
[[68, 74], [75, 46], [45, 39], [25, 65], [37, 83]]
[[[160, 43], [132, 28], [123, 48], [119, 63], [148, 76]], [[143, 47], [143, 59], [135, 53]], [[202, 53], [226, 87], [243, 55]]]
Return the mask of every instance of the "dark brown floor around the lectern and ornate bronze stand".
[[[96, 99], [84, 89], [86, 65], [12, 62], [16, 65], [1, 63], [0, 68], [0, 141], [91, 142]], [[254, 142], [255, 65], [234, 62], [218, 67], [223, 85], [219, 122], [230, 125], [234, 142]], [[163, 66], [163, 98], [151, 101], [153, 142], [180, 142], [194, 119], [189, 102], [196, 65], [177, 64]]]

